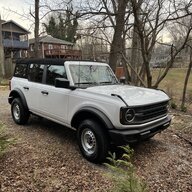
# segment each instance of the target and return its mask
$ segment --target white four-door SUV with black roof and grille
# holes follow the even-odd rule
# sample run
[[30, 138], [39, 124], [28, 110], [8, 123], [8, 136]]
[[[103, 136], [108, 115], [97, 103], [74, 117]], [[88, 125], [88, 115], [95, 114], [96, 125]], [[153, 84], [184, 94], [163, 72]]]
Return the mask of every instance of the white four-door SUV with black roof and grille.
[[148, 139], [171, 121], [164, 92], [122, 85], [99, 62], [18, 60], [8, 100], [17, 124], [35, 114], [75, 129], [91, 162], [102, 162], [111, 144]]

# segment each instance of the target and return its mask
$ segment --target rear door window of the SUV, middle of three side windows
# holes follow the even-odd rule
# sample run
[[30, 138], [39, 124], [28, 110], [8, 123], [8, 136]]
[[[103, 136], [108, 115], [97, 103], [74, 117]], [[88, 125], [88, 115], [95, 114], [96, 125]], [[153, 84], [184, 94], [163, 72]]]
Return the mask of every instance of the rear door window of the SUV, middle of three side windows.
[[42, 83], [44, 65], [30, 64], [29, 66], [29, 81]]

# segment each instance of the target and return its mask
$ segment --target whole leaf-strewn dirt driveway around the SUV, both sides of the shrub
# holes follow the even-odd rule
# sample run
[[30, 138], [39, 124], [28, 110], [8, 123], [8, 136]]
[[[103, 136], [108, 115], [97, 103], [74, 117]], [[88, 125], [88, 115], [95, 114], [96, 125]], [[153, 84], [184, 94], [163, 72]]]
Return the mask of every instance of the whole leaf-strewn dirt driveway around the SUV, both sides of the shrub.
[[[102, 165], [80, 155], [75, 133], [31, 117], [13, 123], [8, 90], [0, 89], [0, 122], [16, 144], [0, 159], [0, 191], [108, 191]], [[192, 191], [192, 116], [173, 114], [172, 126], [134, 146], [134, 164], [150, 192]]]

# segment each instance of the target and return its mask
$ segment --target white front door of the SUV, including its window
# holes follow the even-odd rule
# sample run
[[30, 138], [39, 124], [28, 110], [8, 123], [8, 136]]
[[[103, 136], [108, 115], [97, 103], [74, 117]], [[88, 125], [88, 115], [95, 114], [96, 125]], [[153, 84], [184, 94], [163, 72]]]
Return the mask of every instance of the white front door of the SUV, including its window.
[[64, 65], [47, 65], [46, 79], [41, 86], [40, 109], [43, 116], [67, 124], [68, 99], [71, 90], [56, 88], [56, 78], [67, 78]]

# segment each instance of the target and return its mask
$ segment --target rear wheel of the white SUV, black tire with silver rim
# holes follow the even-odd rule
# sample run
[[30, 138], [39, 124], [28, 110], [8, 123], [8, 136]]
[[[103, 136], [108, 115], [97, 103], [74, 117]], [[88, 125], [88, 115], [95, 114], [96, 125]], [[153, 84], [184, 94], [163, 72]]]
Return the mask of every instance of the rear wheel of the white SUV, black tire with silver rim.
[[19, 125], [26, 124], [29, 119], [29, 111], [19, 98], [15, 98], [11, 103], [11, 114], [15, 123]]

